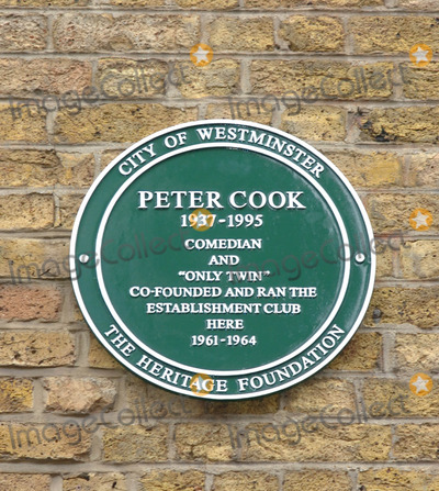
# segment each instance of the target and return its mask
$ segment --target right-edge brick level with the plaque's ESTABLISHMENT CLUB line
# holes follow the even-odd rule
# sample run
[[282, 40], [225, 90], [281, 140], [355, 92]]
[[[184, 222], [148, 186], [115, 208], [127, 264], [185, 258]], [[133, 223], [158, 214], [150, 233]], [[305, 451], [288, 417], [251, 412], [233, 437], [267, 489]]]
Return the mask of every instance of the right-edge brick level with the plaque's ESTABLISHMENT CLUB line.
[[439, 325], [439, 287], [376, 288], [364, 317], [365, 325], [414, 324], [420, 328]]

